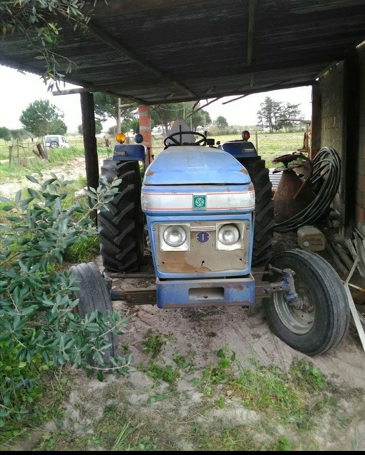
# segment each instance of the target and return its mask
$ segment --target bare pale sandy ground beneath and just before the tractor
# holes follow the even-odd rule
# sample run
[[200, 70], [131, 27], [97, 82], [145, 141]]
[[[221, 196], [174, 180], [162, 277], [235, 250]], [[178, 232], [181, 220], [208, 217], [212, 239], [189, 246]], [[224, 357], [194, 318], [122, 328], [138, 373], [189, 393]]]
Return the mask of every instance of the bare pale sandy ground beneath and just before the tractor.
[[[150, 282], [139, 279], [126, 279], [114, 285], [120, 289], [148, 287]], [[123, 302], [114, 302], [115, 309], [126, 311]], [[195, 361], [200, 366], [214, 359], [216, 352], [225, 343], [236, 352], [237, 358], [244, 361], [251, 356], [253, 348], [258, 360], [264, 365], [275, 363], [284, 371], [294, 359], [307, 358], [323, 373], [352, 387], [365, 388], [365, 353], [362, 350], [353, 324], [341, 342], [331, 352], [316, 357], [307, 357], [291, 348], [270, 330], [261, 303], [252, 308], [181, 308], [159, 309], [155, 306], [134, 307], [132, 319], [126, 334], [134, 360], [138, 363], [142, 340], [152, 332], [173, 334], [178, 351], [195, 349]], [[168, 362], [170, 359], [166, 359]]]

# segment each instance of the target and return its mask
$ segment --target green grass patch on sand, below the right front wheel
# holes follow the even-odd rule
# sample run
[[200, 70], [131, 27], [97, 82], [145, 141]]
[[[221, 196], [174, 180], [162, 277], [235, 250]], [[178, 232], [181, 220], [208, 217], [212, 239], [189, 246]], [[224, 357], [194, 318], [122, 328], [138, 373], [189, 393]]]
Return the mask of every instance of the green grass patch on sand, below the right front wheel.
[[[210, 365], [203, 371], [202, 378], [195, 380], [209, 398], [220, 394], [218, 406], [224, 405], [222, 391], [230, 391], [233, 397], [242, 400], [246, 408], [264, 412], [276, 421], [294, 424], [299, 430], [308, 430], [334, 404], [334, 396], [327, 393], [329, 383], [308, 361], [293, 362], [287, 376], [275, 365], [261, 365], [252, 353], [247, 368], [236, 362], [237, 374], [232, 369], [234, 353], [225, 347], [218, 351], [218, 355], [220, 362]], [[220, 391], [216, 390], [218, 383], [223, 384]]]

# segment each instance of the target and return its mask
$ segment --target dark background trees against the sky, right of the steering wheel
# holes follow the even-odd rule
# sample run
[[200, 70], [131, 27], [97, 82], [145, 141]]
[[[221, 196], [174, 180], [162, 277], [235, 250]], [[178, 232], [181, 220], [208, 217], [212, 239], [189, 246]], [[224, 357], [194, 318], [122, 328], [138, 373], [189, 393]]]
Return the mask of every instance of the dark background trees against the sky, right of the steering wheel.
[[266, 96], [264, 102], [260, 104], [257, 112], [259, 124], [262, 128], [269, 128], [270, 131], [277, 131], [281, 128], [288, 128], [294, 125], [294, 119], [303, 119], [299, 109], [299, 104], [276, 101]]

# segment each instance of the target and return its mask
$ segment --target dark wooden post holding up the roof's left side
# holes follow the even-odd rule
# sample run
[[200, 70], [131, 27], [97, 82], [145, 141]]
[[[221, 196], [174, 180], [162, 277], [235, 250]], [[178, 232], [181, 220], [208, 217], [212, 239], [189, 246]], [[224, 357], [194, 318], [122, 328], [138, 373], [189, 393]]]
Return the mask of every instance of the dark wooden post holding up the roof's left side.
[[96, 189], [99, 185], [99, 163], [95, 137], [94, 96], [92, 93], [80, 93], [80, 100], [87, 186]]

